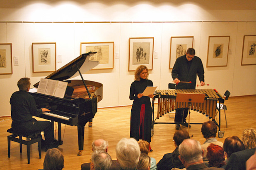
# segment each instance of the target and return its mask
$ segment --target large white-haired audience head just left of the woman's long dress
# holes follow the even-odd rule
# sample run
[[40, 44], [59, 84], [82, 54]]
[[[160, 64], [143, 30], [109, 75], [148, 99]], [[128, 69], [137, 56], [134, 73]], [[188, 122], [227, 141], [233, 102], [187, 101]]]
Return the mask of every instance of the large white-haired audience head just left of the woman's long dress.
[[134, 138], [123, 138], [116, 145], [116, 158], [124, 170], [135, 169], [140, 157], [140, 146]]

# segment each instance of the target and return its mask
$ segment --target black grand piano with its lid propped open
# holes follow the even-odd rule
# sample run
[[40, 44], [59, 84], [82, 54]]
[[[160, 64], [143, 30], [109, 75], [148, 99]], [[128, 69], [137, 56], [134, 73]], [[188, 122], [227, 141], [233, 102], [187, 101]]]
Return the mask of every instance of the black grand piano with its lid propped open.
[[[82, 73], [99, 64], [99, 61], [89, 60], [95, 53], [82, 54], [46, 77], [47, 79], [68, 82], [64, 98], [34, 92], [39, 82], [34, 84], [35, 88], [29, 91], [36, 101], [37, 108], [46, 107], [51, 110], [49, 113], [44, 112], [38, 117], [51, 120], [52, 126], [54, 122], [58, 122], [58, 141], [60, 144], [63, 144], [61, 123], [77, 126], [78, 155], [82, 155], [84, 148], [85, 124], [94, 118], [97, 112], [97, 102], [101, 101], [103, 96], [103, 85], [101, 83], [84, 80], [82, 77]], [[68, 80], [79, 75], [82, 80]]]

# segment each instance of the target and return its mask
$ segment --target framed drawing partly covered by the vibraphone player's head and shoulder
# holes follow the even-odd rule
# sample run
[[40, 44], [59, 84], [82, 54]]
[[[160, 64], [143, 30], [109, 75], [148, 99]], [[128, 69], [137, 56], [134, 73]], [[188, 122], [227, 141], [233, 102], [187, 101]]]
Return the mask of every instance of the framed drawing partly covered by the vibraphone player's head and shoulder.
[[171, 37], [169, 69], [172, 69], [176, 59], [186, 54], [188, 48], [193, 47], [193, 36]]

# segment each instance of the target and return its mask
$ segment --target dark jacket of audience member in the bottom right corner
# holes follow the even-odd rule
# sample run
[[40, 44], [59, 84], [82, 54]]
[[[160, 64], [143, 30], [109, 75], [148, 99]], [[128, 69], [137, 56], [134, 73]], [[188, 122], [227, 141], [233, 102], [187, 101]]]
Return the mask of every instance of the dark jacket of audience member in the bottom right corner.
[[255, 153], [256, 148], [234, 152], [228, 159], [225, 170], [246, 170], [246, 161]]

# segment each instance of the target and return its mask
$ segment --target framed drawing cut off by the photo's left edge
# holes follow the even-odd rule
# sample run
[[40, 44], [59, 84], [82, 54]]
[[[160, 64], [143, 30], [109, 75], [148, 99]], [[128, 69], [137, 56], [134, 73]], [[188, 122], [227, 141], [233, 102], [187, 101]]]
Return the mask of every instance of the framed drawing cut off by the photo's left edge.
[[0, 44], [1, 74], [12, 74], [12, 44]]

